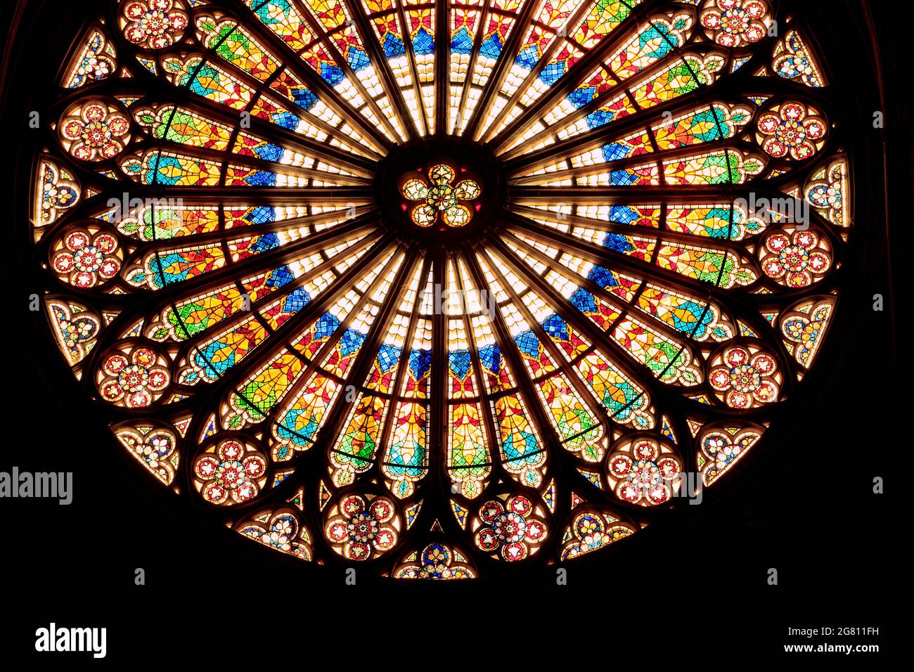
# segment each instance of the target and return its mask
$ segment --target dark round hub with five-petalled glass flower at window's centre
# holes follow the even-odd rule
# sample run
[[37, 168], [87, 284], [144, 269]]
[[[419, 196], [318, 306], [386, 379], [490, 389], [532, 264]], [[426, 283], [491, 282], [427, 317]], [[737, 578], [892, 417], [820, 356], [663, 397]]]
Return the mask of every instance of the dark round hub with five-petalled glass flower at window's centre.
[[385, 223], [404, 238], [467, 240], [501, 218], [505, 178], [483, 144], [423, 138], [390, 151], [376, 176], [376, 199]]

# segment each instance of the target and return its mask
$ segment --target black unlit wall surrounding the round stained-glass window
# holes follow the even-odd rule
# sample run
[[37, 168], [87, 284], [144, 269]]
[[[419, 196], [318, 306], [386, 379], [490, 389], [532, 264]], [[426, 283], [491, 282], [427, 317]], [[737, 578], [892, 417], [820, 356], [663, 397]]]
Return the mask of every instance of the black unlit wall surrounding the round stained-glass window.
[[[893, 237], [912, 224], [910, 64], [899, 56], [909, 47], [887, 3], [866, 12], [856, 2], [824, 0], [798, 8], [818, 30], [833, 72], [847, 74], [843, 123], [859, 129], [854, 258], [802, 404], [766, 434], [751, 473], [706, 493], [681, 524], [644, 530], [637, 542], [568, 565], [561, 587], [554, 574], [473, 585], [369, 585], [359, 577], [347, 586], [342, 571], [303, 567], [241, 542], [150, 486], [76, 398], [45, 317], [27, 309], [37, 291], [22, 216], [27, 111], [53, 95], [33, 82], [53, 80], [60, 55], [48, 46], [66, 48], [91, 4], [7, 5], [0, 128], [13, 167], [3, 184], [13, 190], [0, 222], [16, 242], [0, 264], [9, 288], [0, 330], [0, 470], [71, 471], [74, 495], [69, 507], [0, 500], [2, 655], [34, 652], [35, 629], [51, 621], [107, 627], [108, 658], [117, 661], [130, 654], [197, 660], [208, 652], [221, 662], [250, 655], [264, 664], [419, 665], [428, 649], [455, 662], [510, 664], [560, 647], [569, 664], [602, 666], [635, 653], [644, 663], [686, 664], [729, 649], [775, 654], [807, 641], [788, 637], [788, 626], [822, 625], [877, 626], [877, 637], [830, 641], [887, 651], [897, 625], [890, 614], [908, 583], [899, 556], [909, 527], [897, 526], [889, 500], [900, 498], [892, 493], [910, 475], [910, 411], [901, 402], [910, 371], [898, 358], [890, 304], [874, 312], [872, 297], [888, 302], [892, 292], [890, 260], [900, 241], [887, 245], [886, 219]], [[871, 43], [878, 57], [863, 46]], [[886, 112], [884, 131], [872, 127], [877, 110]], [[886, 479], [888, 495], [873, 494], [875, 476]], [[145, 570], [143, 586], [134, 585], [136, 568]], [[777, 586], [767, 583], [769, 568], [779, 572]], [[636, 639], [648, 646], [636, 648]]]

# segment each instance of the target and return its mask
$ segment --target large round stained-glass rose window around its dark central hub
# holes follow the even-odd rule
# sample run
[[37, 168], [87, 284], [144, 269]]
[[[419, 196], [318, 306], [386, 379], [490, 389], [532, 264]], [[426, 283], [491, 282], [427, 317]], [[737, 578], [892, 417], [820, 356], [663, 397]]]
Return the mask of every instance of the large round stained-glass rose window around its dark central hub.
[[[833, 316], [814, 29], [771, 0], [112, 1], [43, 115], [51, 328], [152, 481], [276, 551], [466, 579], [609, 546], [759, 442]], [[496, 157], [485, 235], [377, 207], [431, 136]]]

